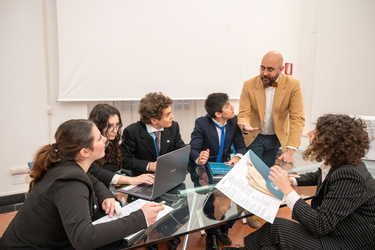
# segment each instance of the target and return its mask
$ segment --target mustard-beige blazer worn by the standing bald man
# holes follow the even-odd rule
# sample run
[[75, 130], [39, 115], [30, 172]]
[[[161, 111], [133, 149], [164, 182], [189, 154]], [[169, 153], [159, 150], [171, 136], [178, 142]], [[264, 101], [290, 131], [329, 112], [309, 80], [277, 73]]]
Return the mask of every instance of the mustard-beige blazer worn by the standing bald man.
[[[258, 136], [263, 125], [266, 97], [263, 83], [256, 76], [243, 85], [238, 114], [239, 122], [249, 123], [259, 130], [244, 135], [246, 146]], [[286, 146], [298, 148], [305, 126], [302, 91], [299, 80], [280, 74], [273, 101], [272, 117], [275, 133], [283, 151]]]

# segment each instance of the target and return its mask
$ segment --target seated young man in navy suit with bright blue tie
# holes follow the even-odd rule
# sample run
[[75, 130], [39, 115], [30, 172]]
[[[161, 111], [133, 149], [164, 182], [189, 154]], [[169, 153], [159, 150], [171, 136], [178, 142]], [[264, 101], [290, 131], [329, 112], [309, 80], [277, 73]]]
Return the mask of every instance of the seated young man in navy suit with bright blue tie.
[[[190, 165], [196, 168], [207, 162], [235, 165], [246, 153], [246, 146], [228, 95], [212, 93], [207, 97], [204, 107], [207, 115], [196, 119], [191, 134]], [[231, 158], [232, 145], [236, 154]], [[224, 245], [231, 245], [228, 230], [234, 222], [207, 229], [206, 249], [218, 249], [217, 238]]]

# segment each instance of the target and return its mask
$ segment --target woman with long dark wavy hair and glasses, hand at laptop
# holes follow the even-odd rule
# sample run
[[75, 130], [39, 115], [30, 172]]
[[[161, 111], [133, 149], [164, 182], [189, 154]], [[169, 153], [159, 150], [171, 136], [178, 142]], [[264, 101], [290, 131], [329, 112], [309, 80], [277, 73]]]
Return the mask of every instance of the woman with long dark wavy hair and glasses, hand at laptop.
[[105, 156], [96, 160], [89, 172], [102, 181], [106, 186], [141, 183], [153, 184], [154, 176], [143, 174], [130, 177], [121, 174], [122, 154], [121, 140], [121, 115], [117, 108], [109, 104], [97, 104], [90, 112], [89, 120], [93, 121], [101, 134], [108, 139], [105, 148]]

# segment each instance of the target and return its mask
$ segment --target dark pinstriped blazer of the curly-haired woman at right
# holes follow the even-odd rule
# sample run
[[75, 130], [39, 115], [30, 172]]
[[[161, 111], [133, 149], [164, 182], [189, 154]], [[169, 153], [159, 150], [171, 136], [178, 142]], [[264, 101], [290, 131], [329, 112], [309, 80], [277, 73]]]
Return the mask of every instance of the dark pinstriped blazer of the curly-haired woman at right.
[[331, 168], [323, 182], [320, 169], [297, 182], [317, 184], [311, 206], [299, 199], [292, 218], [317, 235], [323, 249], [375, 249], [375, 181], [364, 163]]

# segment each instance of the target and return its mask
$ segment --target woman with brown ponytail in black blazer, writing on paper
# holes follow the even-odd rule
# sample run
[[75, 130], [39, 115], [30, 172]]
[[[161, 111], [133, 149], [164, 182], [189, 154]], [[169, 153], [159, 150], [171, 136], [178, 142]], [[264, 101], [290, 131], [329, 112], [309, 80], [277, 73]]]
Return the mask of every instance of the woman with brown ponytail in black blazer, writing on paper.
[[1, 240], [1, 249], [94, 249], [111, 247], [153, 224], [163, 208], [147, 203], [129, 216], [93, 225], [99, 212], [113, 216], [114, 195], [91, 174], [107, 139], [88, 120], [59, 126], [55, 143], [35, 155], [29, 195]]

